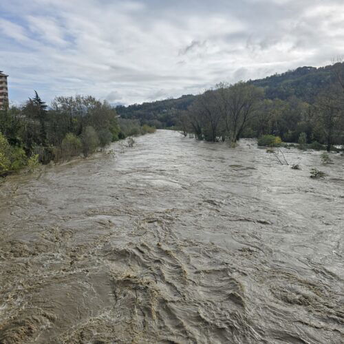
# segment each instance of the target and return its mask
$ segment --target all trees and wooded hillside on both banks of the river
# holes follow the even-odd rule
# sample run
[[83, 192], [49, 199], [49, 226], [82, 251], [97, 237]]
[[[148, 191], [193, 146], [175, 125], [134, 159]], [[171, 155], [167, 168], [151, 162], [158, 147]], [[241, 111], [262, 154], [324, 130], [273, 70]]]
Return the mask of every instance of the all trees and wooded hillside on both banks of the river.
[[0, 132], [7, 142], [1, 169], [19, 169], [36, 154], [43, 164], [69, 160], [78, 155], [80, 142], [89, 155], [98, 145], [103, 149], [110, 141], [154, 128], [175, 129], [198, 140], [227, 140], [230, 147], [240, 138], [257, 137], [268, 147], [283, 140], [299, 142], [302, 149], [330, 151], [344, 144], [343, 91], [344, 63], [336, 63], [247, 83], [220, 83], [197, 96], [116, 110], [106, 101], [80, 95], [56, 97], [48, 107], [34, 92], [25, 104], [0, 109]]

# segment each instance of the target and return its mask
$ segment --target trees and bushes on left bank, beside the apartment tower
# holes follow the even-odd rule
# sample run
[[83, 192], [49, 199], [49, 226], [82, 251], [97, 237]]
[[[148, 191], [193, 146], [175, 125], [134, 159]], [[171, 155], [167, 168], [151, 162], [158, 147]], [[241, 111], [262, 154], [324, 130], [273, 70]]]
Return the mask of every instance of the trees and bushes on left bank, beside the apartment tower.
[[0, 175], [87, 157], [111, 142], [154, 131], [118, 118], [113, 107], [92, 96], [56, 97], [48, 107], [35, 92], [21, 107], [0, 109]]

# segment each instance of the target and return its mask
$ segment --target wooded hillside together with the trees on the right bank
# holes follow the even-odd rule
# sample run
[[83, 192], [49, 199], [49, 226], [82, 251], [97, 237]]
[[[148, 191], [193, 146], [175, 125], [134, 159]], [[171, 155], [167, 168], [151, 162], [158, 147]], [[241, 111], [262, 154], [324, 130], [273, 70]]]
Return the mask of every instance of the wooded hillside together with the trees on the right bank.
[[[178, 129], [199, 140], [279, 136], [301, 148], [330, 150], [344, 143], [344, 63], [300, 67], [260, 80], [221, 83], [198, 96], [117, 107], [125, 118]], [[235, 144], [234, 144], [235, 145]], [[312, 148], [314, 149], [314, 148]]]

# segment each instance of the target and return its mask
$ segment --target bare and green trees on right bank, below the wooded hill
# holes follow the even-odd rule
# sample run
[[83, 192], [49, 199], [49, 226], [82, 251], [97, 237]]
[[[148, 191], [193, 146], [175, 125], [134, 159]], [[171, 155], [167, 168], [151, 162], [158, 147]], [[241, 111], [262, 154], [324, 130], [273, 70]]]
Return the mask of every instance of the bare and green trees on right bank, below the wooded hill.
[[279, 136], [285, 142], [344, 144], [344, 78], [342, 64], [332, 69], [326, 87], [306, 102], [290, 96], [286, 100], [270, 99], [266, 89], [250, 82], [233, 85], [220, 83], [195, 98], [176, 116], [177, 128], [186, 136], [199, 140], [229, 141], [240, 138]]

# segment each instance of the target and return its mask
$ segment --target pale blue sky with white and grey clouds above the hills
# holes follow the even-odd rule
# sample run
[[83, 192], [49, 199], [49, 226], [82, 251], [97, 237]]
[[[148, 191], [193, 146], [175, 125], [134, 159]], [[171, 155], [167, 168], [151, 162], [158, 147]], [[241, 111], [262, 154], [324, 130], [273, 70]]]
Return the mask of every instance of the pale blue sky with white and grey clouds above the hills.
[[197, 94], [344, 55], [344, 0], [1, 0], [10, 98]]

